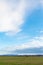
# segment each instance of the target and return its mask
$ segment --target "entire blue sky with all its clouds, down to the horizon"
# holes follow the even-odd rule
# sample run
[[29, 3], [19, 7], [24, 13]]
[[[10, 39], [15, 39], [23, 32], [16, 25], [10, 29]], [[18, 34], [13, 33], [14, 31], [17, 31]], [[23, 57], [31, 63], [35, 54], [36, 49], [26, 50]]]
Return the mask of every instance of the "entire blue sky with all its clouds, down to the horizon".
[[43, 0], [0, 0], [3, 54], [43, 54]]

